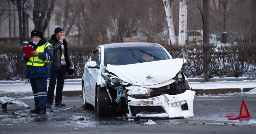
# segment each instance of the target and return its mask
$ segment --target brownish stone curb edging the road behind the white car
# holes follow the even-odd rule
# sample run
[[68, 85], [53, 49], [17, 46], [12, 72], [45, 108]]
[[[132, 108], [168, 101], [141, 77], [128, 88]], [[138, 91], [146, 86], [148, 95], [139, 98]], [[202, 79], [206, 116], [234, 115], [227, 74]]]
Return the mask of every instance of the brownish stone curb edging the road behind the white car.
[[[219, 88], [219, 89], [190, 89], [196, 92], [196, 95], [209, 95], [209, 94], [225, 94], [225, 93], [234, 93], [234, 92], [249, 92], [256, 87], [250, 88]], [[82, 91], [63, 91], [63, 97], [81, 97]]]

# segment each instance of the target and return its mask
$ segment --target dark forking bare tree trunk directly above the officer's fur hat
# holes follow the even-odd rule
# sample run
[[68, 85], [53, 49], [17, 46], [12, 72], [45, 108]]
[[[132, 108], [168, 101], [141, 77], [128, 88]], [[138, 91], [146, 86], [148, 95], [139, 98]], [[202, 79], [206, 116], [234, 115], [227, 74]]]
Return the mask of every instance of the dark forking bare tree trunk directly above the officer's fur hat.
[[45, 32], [51, 19], [54, 0], [34, 0], [33, 21], [36, 30]]

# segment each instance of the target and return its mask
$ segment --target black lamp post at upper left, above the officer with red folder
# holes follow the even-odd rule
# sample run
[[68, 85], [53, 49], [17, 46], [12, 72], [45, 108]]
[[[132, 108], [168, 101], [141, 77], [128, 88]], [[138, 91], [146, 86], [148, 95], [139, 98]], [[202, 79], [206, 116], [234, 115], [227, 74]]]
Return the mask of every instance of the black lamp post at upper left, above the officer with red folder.
[[[23, 37], [22, 37], [22, 25], [21, 25], [21, 5], [23, 5], [26, 0], [10, 0], [13, 4], [16, 5], [18, 9], [18, 16], [19, 16], [19, 31], [20, 31], [20, 44], [23, 44]], [[24, 24], [23, 24], [24, 25]]]

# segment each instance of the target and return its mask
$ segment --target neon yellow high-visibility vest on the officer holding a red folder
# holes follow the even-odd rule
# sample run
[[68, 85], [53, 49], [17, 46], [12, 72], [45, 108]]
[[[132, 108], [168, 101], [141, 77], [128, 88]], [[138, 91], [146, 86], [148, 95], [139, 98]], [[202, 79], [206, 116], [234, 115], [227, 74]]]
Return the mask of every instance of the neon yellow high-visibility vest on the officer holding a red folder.
[[[45, 48], [48, 47], [49, 45], [52, 46], [52, 44], [47, 42], [44, 45], [37, 47], [36, 51], [39, 52], [39, 53], [43, 53], [45, 51]], [[27, 65], [43, 66], [46, 62], [49, 62], [49, 60], [39, 59], [39, 56], [35, 56], [35, 57], [29, 58], [29, 60], [27, 62]]]

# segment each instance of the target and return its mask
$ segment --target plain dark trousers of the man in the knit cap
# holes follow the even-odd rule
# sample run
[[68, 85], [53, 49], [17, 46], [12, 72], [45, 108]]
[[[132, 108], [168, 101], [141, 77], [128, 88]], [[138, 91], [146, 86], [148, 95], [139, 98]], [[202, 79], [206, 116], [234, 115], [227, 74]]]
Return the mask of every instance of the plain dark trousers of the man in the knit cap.
[[55, 92], [55, 103], [62, 102], [62, 90], [63, 90], [64, 80], [65, 80], [65, 75], [66, 75], [66, 65], [60, 65], [60, 70], [51, 68], [50, 82], [49, 82], [49, 87], [47, 91], [47, 103], [50, 103], [50, 104], [53, 103], [56, 79], [57, 79], [57, 86], [56, 86], [56, 92]]

